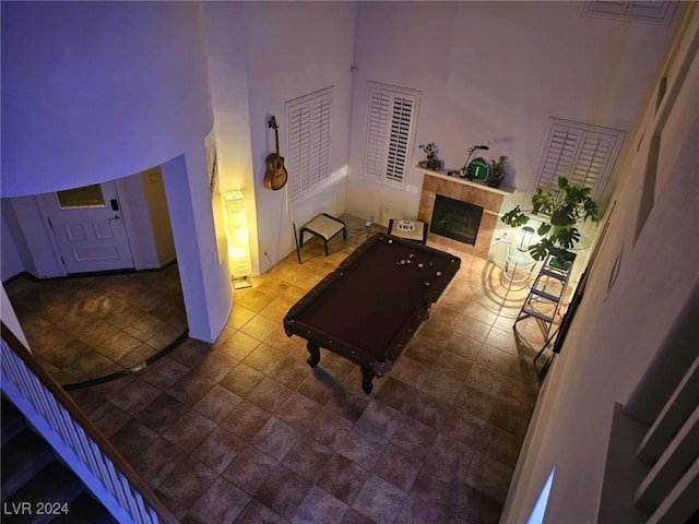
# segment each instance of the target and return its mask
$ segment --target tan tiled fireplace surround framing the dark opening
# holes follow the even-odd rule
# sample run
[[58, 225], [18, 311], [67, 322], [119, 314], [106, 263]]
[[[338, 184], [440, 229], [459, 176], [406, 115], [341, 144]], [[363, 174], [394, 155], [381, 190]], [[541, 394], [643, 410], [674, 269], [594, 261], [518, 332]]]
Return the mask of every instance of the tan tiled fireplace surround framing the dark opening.
[[483, 217], [481, 218], [481, 227], [478, 228], [475, 246], [469, 246], [433, 233], [428, 233], [427, 239], [446, 249], [455, 249], [487, 260], [505, 193], [486, 184], [449, 177], [439, 172], [425, 172], [419, 198], [419, 211], [417, 213], [418, 221], [431, 222], [435, 196], [437, 194], [479, 205], [483, 207]]

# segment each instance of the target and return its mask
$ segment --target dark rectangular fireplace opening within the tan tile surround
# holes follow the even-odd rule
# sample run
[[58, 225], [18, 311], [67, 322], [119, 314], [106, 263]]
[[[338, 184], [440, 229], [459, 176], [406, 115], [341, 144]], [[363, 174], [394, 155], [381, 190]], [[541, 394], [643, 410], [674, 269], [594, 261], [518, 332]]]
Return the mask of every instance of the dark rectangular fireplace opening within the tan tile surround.
[[483, 207], [441, 194], [435, 195], [430, 233], [463, 243], [476, 245]]

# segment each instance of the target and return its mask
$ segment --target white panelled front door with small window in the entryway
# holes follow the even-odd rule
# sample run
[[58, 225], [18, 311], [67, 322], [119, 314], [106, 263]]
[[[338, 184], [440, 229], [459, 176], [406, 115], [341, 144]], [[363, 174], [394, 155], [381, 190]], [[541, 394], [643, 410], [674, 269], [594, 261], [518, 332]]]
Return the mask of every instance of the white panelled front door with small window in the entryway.
[[133, 267], [115, 182], [42, 195], [68, 273]]

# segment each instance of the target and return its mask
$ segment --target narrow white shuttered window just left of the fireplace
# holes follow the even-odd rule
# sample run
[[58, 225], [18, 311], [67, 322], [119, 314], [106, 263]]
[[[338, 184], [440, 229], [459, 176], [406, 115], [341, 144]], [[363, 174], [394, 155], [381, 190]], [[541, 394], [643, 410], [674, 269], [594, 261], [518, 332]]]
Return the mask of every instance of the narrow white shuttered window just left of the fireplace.
[[418, 103], [417, 92], [368, 83], [366, 177], [403, 183], [412, 156]]

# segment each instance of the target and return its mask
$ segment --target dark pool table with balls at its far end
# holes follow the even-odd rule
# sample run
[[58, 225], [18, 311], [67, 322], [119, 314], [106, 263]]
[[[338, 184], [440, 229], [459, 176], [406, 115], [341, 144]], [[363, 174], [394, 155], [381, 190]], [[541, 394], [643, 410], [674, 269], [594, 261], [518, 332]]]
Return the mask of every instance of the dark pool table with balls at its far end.
[[321, 347], [360, 366], [369, 394], [374, 378], [401, 355], [460, 265], [450, 253], [374, 235], [288, 310], [284, 330], [308, 341], [311, 368]]

